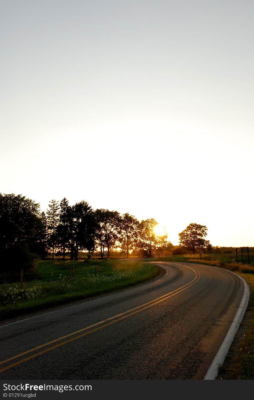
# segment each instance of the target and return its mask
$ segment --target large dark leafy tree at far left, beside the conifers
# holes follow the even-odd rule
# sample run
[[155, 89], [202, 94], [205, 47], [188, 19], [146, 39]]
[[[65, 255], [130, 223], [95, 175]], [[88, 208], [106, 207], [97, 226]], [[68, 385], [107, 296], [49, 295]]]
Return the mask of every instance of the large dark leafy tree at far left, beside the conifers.
[[33, 268], [41, 227], [39, 204], [21, 194], [0, 194], [2, 270]]

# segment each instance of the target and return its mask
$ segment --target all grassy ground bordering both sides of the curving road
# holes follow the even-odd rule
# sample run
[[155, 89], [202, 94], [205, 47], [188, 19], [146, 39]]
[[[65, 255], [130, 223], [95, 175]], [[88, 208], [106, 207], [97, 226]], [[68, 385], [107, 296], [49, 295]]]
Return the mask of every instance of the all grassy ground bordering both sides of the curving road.
[[[254, 254], [249, 254], [250, 265], [238, 254], [203, 254], [167, 256], [145, 259], [91, 259], [89, 262], [48, 260], [38, 262], [37, 270], [20, 281], [0, 284], [0, 318], [26, 314], [49, 306], [64, 304], [121, 289], [154, 278], [158, 268], [149, 261], [194, 262], [224, 268], [241, 275], [250, 285], [250, 302], [244, 318], [244, 333], [234, 341], [220, 367], [217, 379], [254, 379]], [[248, 258], [247, 258], [248, 260]], [[2, 277], [2, 279], [4, 279]], [[5, 278], [6, 279], [6, 278]], [[240, 330], [239, 330], [240, 331]], [[233, 350], [232, 350], [233, 349]]]

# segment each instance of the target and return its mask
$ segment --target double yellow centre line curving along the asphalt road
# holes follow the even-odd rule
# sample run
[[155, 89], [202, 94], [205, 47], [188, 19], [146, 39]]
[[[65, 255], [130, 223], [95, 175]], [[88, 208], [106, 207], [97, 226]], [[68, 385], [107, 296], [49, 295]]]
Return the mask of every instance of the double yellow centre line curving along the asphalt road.
[[[4, 372], [4, 371], [6, 371], [6, 370], [8, 370], [10, 368], [13, 368], [13, 367], [15, 367], [17, 365], [22, 364], [23, 362], [26, 362], [28, 360], [32, 360], [32, 358], [38, 357], [41, 354], [47, 353], [47, 352], [49, 352], [51, 350], [54, 350], [55, 348], [63, 346], [64, 344], [73, 342], [76, 339], [83, 338], [84, 336], [89, 335], [90, 333], [96, 332], [97, 330], [100, 330], [102, 328], [106, 328], [106, 326], [109, 326], [109, 325], [115, 324], [118, 321], [124, 320], [125, 318], [128, 318], [128, 317], [130, 317], [130, 316], [132, 316], [134, 314], [137, 314], [138, 312], [144, 311], [149, 307], [155, 306], [156, 304], [159, 304], [160, 302], [162, 302], [164, 300], [167, 300], [168, 298], [170, 298], [172, 296], [175, 296], [176, 294], [182, 292], [183, 290], [186, 290], [187, 288], [192, 286], [194, 283], [198, 282], [198, 280], [200, 279], [200, 273], [198, 271], [196, 272], [194, 269], [192, 269], [190, 267], [186, 267], [186, 268], [189, 268], [190, 270], [192, 270], [194, 272], [195, 278], [192, 279], [190, 282], [186, 283], [184, 286], [181, 286], [180, 288], [175, 289], [170, 293], [164, 294], [164, 296], [158, 297], [158, 298], [156, 298], [156, 299], [154, 299], [154, 300], [152, 300], [150, 302], [144, 303], [141, 306], [134, 307], [134, 308], [132, 308], [130, 310], [122, 312], [121, 314], [114, 315], [114, 316], [112, 316], [110, 318], [107, 318], [106, 320], [97, 322], [96, 324], [93, 324], [93, 325], [90, 325], [90, 326], [86, 326], [86, 328], [82, 328], [80, 330], [76, 330], [76, 332], [72, 332], [72, 333], [70, 333], [68, 335], [61, 336], [58, 339], [51, 340], [51, 342], [47, 342], [45, 344], [42, 344], [40, 346], [34, 347], [34, 348], [30, 349], [30, 350], [27, 350], [27, 351], [25, 351], [23, 353], [17, 354], [16, 356], [7, 358], [6, 360], [1, 361], [0, 365], [8, 364], [11, 361], [16, 360], [17, 358], [20, 358], [20, 360], [18, 360], [16, 362], [13, 362], [12, 364], [8, 364], [6, 366], [3, 366], [2, 368], [0, 368], [0, 372]], [[77, 335], [77, 336], [74, 336], [74, 335]], [[67, 339], [67, 340], [64, 340], [64, 339]], [[61, 340], [63, 340], [63, 341], [60, 342]], [[56, 343], [56, 342], [58, 342], [58, 343]], [[56, 343], [56, 344], [54, 344], [54, 343]], [[50, 346], [51, 344], [54, 344], [54, 345]], [[50, 346], [50, 347], [47, 347], [47, 346]], [[40, 350], [40, 349], [43, 349], [43, 350]], [[40, 351], [36, 352], [37, 350], [40, 350]], [[32, 353], [32, 352], [34, 352], [34, 354], [30, 354], [28, 357], [22, 358], [23, 356], [26, 356], [27, 354]]]

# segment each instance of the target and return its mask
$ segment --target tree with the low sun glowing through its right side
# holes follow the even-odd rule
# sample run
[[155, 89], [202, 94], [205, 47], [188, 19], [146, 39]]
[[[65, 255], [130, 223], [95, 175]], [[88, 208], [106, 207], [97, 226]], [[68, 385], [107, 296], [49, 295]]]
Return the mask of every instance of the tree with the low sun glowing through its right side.
[[162, 246], [167, 235], [158, 235], [155, 233], [155, 227], [158, 222], [154, 218], [142, 220], [138, 226], [138, 242], [137, 246], [139, 250], [142, 250], [143, 254], [147, 257], [152, 257], [156, 249]]

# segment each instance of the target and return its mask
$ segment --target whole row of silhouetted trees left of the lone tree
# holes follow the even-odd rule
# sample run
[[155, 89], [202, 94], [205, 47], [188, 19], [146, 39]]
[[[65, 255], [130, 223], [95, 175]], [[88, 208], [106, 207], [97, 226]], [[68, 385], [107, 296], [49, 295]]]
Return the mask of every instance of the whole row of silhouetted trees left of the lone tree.
[[51, 200], [46, 212], [40, 205], [22, 195], [0, 194], [0, 260], [1, 270], [33, 267], [34, 259], [49, 254], [68, 254], [78, 260], [78, 252], [88, 258], [99, 250], [110, 257], [111, 250], [120, 248], [141, 257], [162, 255], [174, 246], [166, 233], [158, 235], [154, 218], [139, 221], [129, 213], [106, 209], [93, 210], [84, 200], [73, 206], [66, 198]]

